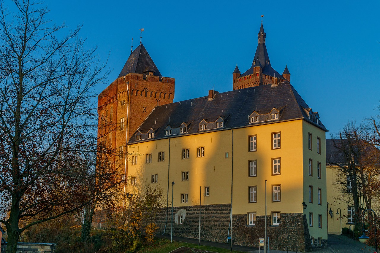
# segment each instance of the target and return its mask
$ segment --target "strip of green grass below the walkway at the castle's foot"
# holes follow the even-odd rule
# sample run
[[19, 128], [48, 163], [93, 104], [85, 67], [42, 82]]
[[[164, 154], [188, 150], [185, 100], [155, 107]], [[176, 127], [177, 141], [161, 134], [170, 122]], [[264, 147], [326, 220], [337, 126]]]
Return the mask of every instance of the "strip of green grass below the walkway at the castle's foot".
[[168, 239], [156, 239], [154, 244], [150, 245], [149, 247], [140, 249], [139, 251], [137, 251], [137, 253], [168, 253], [179, 247], [198, 248], [205, 251], [214, 251], [214, 252], [219, 252], [219, 253], [241, 252], [241, 251], [235, 251], [235, 250], [230, 251], [229, 249], [224, 249], [224, 248], [214, 248], [214, 247], [203, 246], [203, 245], [199, 246], [198, 244], [190, 244], [187, 242], [173, 242], [171, 244], [170, 240]]

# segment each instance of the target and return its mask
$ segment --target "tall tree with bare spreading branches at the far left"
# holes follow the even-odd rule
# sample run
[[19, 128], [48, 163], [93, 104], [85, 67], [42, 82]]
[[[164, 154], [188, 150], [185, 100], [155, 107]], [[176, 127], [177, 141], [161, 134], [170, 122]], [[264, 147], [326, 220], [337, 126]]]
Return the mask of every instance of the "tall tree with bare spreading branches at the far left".
[[[96, 152], [93, 87], [104, 64], [84, 49], [79, 27], [60, 38], [40, 3], [0, 1], [0, 222], [15, 253], [30, 226], [92, 199], [86, 154]], [[94, 110], [95, 109], [95, 110]], [[92, 195], [91, 195], [92, 196]], [[22, 222], [21, 222], [22, 221]]]

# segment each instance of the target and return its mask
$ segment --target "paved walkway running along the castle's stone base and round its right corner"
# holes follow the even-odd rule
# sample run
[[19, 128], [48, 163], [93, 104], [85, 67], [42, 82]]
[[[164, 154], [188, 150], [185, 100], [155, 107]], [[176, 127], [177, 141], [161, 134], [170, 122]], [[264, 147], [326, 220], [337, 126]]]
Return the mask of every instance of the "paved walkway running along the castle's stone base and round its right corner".
[[[156, 235], [156, 237], [170, 239], [170, 236]], [[173, 236], [173, 240], [178, 242], [188, 242], [192, 244], [198, 244], [197, 239], [190, 239], [184, 237]], [[210, 242], [201, 240], [201, 245], [217, 247], [217, 248], [226, 248], [230, 249], [230, 244], [223, 244], [220, 242]], [[245, 247], [239, 245], [232, 245], [233, 250], [242, 251], [242, 252], [251, 252], [258, 253], [259, 249], [255, 247]], [[361, 242], [352, 240], [346, 236], [339, 235], [328, 235], [328, 246], [326, 248], [320, 248], [313, 250], [313, 253], [371, 253], [374, 252], [374, 248], [362, 244]], [[287, 251], [282, 250], [269, 250], [269, 253], [286, 253]], [[260, 253], [264, 253], [264, 250], [261, 249]], [[295, 253], [295, 251], [288, 251], [288, 253]]]

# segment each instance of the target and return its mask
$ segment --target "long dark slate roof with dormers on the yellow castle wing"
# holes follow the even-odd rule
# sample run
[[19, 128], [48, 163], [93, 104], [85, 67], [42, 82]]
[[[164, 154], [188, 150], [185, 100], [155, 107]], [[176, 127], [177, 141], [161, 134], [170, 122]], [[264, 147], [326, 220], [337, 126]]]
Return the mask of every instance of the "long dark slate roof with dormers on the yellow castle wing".
[[[279, 120], [249, 124], [249, 115], [253, 111], [271, 111], [273, 108], [283, 108], [280, 111]], [[289, 82], [282, 82], [277, 86], [268, 84], [218, 93], [210, 101], [208, 100], [208, 96], [204, 96], [157, 106], [138, 130], [141, 133], [147, 133], [150, 128], [157, 128], [155, 139], [161, 139], [168, 138], [168, 136], [165, 136], [166, 126], [171, 125], [172, 128], [178, 128], [182, 122], [192, 122], [188, 125], [188, 132], [186, 134], [196, 134], [303, 118], [327, 131], [322, 123], [317, 125], [311, 122], [303, 108], [309, 108], [309, 106], [307, 106]], [[225, 117], [223, 128], [198, 131], [199, 123], [203, 119], [215, 121], [219, 116]], [[206, 121], [212, 122], [211, 120]], [[135, 136], [129, 142], [135, 142]]]

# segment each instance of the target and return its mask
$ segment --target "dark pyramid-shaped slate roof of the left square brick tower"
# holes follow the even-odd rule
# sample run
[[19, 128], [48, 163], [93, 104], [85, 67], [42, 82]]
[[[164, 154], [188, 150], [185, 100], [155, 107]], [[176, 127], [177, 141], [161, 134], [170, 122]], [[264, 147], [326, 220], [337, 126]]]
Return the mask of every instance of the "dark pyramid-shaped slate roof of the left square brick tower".
[[125, 76], [129, 73], [144, 74], [145, 71], [150, 70], [154, 72], [155, 76], [162, 76], [160, 71], [158, 71], [157, 66], [154, 64], [152, 58], [146, 51], [143, 44], [136, 47], [135, 50], [128, 57], [123, 69], [117, 78]]

